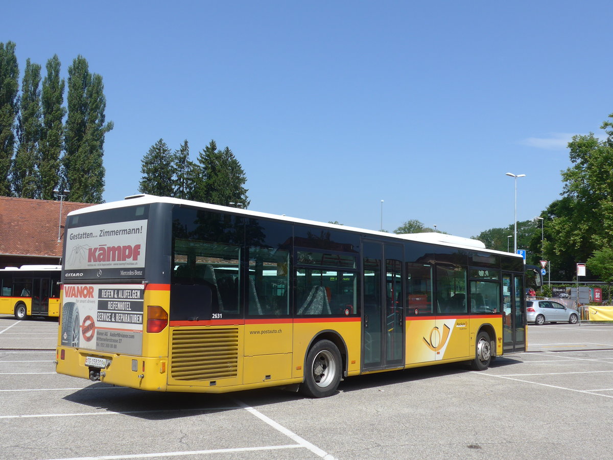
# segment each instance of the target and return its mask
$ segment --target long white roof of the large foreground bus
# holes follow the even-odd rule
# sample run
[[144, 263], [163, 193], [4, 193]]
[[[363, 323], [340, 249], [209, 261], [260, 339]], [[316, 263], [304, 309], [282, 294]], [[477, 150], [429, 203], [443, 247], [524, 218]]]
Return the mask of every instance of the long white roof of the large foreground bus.
[[488, 253], [504, 255], [504, 256], [522, 257], [517, 254], [487, 249], [485, 248], [484, 243], [479, 240], [465, 238], [461, 236], [448, 235], [444, 233], [430, 232], [430, 233], [394, 234], [394, 233], [380, 232], [380, 231], [369, 230], [369, 229], [364, 229], [364, 228], [351, 227], [351, 226], [346, 226], [346, 225], [324, 223], [324, 222], [300, 219], [300, 218], [295, 218], [295, 217], [287, 217], [286, 215], [270, 214], [270, 213], [265, 213], [265, 212], [251, 211], [251, 210], [240, 209], [240, 208], [229, 207], [229, 206], [221, 206], [218, 204], [202, 203], [198, 201], [171, 198], [167, 196], [154, 196], [154, 195], [148, 195], [148, 194], [138, 194], [138, 195], [126, 196], [126, 198], [123, 201], [112, 201], [109, 203], [96, 204], [96, 205], [85, 207], [82, 209], [76, 209], [70, 212], [68, 215], [72, 216], [72, 215], [86, 214], [86, 213], [102, 211], [102, 210], [116, 209], [116, 208], [129, 207], [129, 206], [137, 206], [139, 204], [152, 204], [152, 203], [169, 203], [169, 204], [177, 204], [177, 205], [194, 206], [194, 207], [199, 207], [201, 209], [230, 212], [230, 213], [234, 213], [237, 215], [245, 215], [245, 216], [250, 216], [250, 217], [262, 217], [262, 218], [286, 221], [286, 222], [291, 222], [291, 223], [314, 225], [314, 226], [326, 227], [330, 229], [360, 232], [364, 234], [371, 234], [371, 235], [376, 235], [376, 236], [386, 236], [386, 237], [415, 241], [415, 242], [433, 243], [433, 244], [438, 244], [438, 245], [443, 245], [443, 246], [464, 248], [464, 249], [473, 250], [473, 251], [474, 250], [486, 251]]

